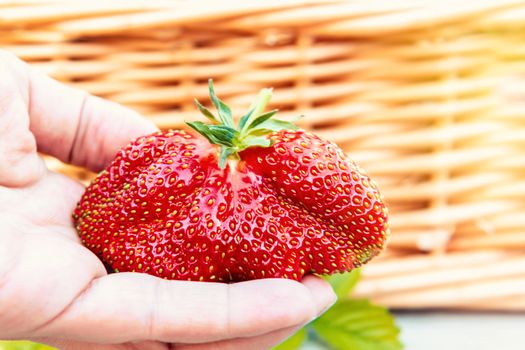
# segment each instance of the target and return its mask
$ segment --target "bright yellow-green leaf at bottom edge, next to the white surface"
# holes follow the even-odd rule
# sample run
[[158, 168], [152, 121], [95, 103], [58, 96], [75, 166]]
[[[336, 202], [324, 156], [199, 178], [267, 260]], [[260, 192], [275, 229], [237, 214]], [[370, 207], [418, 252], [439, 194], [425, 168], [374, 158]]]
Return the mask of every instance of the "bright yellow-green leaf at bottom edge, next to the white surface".
[[340, 301], [312, 326], [323, 341], [336, 350], [403, 348], [392, 315], [368, 300]]

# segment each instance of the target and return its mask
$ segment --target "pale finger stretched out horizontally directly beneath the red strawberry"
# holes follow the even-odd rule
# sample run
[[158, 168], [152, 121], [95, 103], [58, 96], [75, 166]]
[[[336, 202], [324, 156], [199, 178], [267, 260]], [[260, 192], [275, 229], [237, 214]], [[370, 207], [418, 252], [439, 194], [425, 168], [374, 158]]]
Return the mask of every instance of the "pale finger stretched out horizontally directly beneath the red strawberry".
[[99, 343], [202, 343], [257, 336], [308, 322], [333, 303], [330, 286], [266, 279], [237, 284], [167, 281], [118, 273], [93, 281], [40, 336]]

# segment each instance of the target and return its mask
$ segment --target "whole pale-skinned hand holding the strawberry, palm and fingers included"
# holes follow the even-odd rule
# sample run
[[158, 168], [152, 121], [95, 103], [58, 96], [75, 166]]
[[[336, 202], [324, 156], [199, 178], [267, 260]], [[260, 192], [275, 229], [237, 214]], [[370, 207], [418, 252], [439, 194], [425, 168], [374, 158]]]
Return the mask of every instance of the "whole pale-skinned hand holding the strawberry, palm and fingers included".
[[72, 225], [83, 186], [46, 169], [37, 150], [99, 171], [155, 126], [3, 51], [0, 77], [0, 339], [77, 350], [267, 349], [335, 301], [313, 276], [228, 285], [107, 275]]

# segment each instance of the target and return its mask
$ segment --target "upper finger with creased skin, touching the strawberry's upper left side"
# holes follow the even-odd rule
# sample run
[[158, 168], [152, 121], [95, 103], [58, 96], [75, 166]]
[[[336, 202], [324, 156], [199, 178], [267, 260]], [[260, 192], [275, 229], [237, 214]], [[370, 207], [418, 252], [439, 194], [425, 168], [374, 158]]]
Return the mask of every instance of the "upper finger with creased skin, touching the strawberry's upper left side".
[[67, 87], [3, 54], [19, 81], [26, 81], [27, 110], [38, 149], [62, 161], [101, 170], [133, 138], [157, 128], [116, 103]]

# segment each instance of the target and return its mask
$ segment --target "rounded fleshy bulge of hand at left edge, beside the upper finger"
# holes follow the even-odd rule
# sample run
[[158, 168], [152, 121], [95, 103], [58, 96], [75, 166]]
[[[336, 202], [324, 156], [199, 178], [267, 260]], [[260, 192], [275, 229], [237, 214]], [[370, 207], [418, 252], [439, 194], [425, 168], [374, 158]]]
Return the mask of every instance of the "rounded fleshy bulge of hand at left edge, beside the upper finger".
[[44, 174], [36, 153], [36, 141], [29, 131], [27, 96], [0, 58], [0, 185], [25, 186]]

